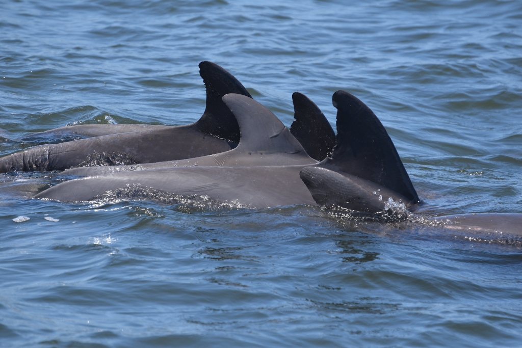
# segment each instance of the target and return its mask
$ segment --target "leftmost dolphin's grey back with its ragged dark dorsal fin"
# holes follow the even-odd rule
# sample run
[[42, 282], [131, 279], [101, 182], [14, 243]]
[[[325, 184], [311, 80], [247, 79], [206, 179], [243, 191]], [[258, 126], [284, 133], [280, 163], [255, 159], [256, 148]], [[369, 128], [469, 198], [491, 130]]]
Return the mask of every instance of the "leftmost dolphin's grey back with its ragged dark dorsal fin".
[[221, 97], [227, 93], [252, 97], [241, 82], [219, 65], [201, 62], [199, 68], [207, 90], [207, 102], [203, 116], [195, 123], [177, 127], [81, 125], [58, 128], [49, 133], [68, 131], [93, 137], [36, 146], [0, 158], [0, 173], [65, 170], [103, 153], [120, 154], [124, 162], [150, 163], [230, 150], [239, 141], [239, 126]]

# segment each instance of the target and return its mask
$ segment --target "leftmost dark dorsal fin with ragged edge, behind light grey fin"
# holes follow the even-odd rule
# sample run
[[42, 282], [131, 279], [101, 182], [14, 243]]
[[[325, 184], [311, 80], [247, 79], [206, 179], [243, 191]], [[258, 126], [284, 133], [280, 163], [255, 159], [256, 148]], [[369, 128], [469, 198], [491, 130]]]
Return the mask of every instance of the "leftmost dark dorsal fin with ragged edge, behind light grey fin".
[[252, 96], [238, 79], [215, 63], [199, 63], [199, 75], [207, 88], [207, 107], [195, 126], [208, 135], [239, 142], [238, 122], [221, 98], [229, 93], [246, 95], [248, 98]]

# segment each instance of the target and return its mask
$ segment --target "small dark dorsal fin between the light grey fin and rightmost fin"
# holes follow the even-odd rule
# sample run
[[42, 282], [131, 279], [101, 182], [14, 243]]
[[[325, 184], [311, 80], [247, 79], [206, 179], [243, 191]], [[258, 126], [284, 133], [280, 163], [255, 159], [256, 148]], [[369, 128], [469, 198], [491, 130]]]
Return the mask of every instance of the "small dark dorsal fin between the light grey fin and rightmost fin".
[[299, 140], [306, 153], [317, 161], [324, 160], [335, 146], [335, 133], [325, 115], [306, 95], [292, 94], [295, 121], [290, 133]]

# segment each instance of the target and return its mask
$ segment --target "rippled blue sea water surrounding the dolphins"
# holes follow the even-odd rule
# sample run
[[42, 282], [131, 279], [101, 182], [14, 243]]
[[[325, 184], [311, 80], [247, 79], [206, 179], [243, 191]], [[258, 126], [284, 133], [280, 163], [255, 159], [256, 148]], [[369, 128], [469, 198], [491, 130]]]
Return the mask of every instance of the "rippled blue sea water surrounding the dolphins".
[[[2, 1], [0, 155], [67, 124], [193, 122], [209, 60], [287, 126], [294, 91], [333, 125], [333, 92], [356, 95], [423, 215], [522, 213], [522, 2], [252, 4]], [[0, 346], [522, 342], [516, 243], [303, 206], [30, 198], [63, 179], [0, 175]]]

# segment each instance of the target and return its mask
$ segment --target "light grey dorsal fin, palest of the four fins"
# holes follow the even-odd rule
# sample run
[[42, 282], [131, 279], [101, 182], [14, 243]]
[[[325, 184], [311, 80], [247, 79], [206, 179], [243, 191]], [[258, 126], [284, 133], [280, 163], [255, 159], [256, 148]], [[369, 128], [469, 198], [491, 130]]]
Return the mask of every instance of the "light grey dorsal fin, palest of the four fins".
[[262, 104], [240, 94], [227, 94], [223, 101], [238, 120], [241, 129], [241, 140], [236, 149], [256, 152], [304, 152], [290, 130]]

